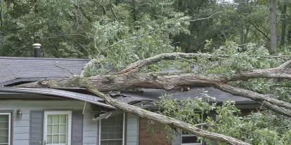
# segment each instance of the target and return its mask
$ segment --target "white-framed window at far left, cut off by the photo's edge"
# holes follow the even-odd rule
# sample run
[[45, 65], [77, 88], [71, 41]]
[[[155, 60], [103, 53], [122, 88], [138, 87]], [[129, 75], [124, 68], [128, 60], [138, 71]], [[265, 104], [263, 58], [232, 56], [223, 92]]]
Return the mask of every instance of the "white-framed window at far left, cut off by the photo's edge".
[[0, 144], [11, 144], [11, 113], [0, 113]]

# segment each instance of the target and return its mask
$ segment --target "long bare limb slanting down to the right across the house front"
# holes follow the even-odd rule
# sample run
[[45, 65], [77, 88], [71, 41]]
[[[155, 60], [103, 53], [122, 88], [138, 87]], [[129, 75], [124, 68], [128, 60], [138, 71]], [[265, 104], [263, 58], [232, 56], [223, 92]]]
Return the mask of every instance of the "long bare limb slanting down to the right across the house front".
[[212, 139], [216, 141], [222, 141], [226, 142], [228, 144], [233, 145], [250, 145], [244, 141], [240, 141], [239, 139], [235, 139], [233, 137], [228, 137], [224, 134], [219, 134], [215, 132], [208, 132], [206, 130], [201, 130], [199, 127], [195, 127], [195, 125], [191, 125], [189, 123], [185, 123], [181, 120], [177, 120], [175, 118], [170, 118], [168, 116], [164, 116], [159, 113], [154, 113], [151, 111], [147, 111], [145, 109], [138, 108], [136, 106], [131, 106], [129, 104], [126, 104], [124, 102], [120, 102], [117, 99], [113, 99], [110, 97], [110, 95], [105, 95], [102, 92], [99, 92], [95, 86], [90, 86], [88, 88], [90, 92], [93, 92], [95, 95], [98, 95], [99, 97], [102, 97], [108, 104], [115, 106], [115, 108], [120, 109], [122, 111], [132, 113], [136, 116], [140, 116], [142, 118], [148, 118], [150, 120], [155, 120], [158, 123], [162, 123], [164, 125], [169, 125], [171, 127], [179, 127], [182, 130], [186, 130], [188, 132], [191, 132], [195, 135], [198, 135], [199, 137], [204, 137], [207, 139]]

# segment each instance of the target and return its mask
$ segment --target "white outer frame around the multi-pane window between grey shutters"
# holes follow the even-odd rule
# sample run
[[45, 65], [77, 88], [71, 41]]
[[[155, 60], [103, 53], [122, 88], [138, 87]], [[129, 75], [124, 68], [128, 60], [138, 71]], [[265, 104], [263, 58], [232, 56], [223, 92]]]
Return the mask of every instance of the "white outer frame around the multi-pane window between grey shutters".
[[[67, 144], [71, 145], [71, 132], [72, 132], [72, 111], [44, 111], [44, 141], [46, 144], [46, 131], [47, 131], [47, 117], [48, 115], [67, 115]], [[55, 145], [55, 144], [53, 144]], [[63, 144], [56, 144], [63, 145]]]

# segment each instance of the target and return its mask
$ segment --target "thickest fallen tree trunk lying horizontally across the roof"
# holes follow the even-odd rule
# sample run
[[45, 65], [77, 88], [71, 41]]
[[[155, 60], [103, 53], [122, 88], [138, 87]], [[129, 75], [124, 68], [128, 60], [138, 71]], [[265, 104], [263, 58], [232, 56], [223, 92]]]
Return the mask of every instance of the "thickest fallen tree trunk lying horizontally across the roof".
[[[157, 88], [164, 90], [172, 90], [179, 86], [212, 86], [223, 90], [225, 92], [231, 93], [233, 95], [238, 95], [241, 97], [250, 98], [258, 103], [269, 102], [272, 105], [276, 105], [281, 110], [281, 113], [285, 116], [290, 116], [291, 113], [288, 111], [283, 111], [283, 109], [291, 109], [291, 104], [288, 102], [283, 102], [276, 97], [271, 97], [270, 95], [262, 95], [251, 90], [246, 90], [243, 88], [237, 88], [232, 85], [227, 84], [225, 79], [213, 79], [213, 78], [198, 78], [195, 74], [159, 74], [159, 73], [148, 73], [148, 74], [119, 74], [119, 75], [104, 75], [104, 76], [91, 76], [89, 78], [67, 78], [60, 81], [41, 81], [39, 83], [28, 83], [24, 85], [19, 85], [20, 87], [86, 87], [88, 84], [93, 83], [96, 89], [102, 92], [114, 91], [114, 90], [124, 90], [130, 88]], [[266, 107], [277, 111], [278, 109], [273, 109], [273, 106], [265, 104]]]

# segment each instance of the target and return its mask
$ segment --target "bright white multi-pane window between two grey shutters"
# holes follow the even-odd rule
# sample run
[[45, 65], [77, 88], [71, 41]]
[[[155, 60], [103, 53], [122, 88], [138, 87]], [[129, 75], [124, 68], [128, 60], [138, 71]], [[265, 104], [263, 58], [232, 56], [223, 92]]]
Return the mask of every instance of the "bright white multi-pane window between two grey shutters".
[[70, 145], [72, 111], [44, 111], [46, 145]]

